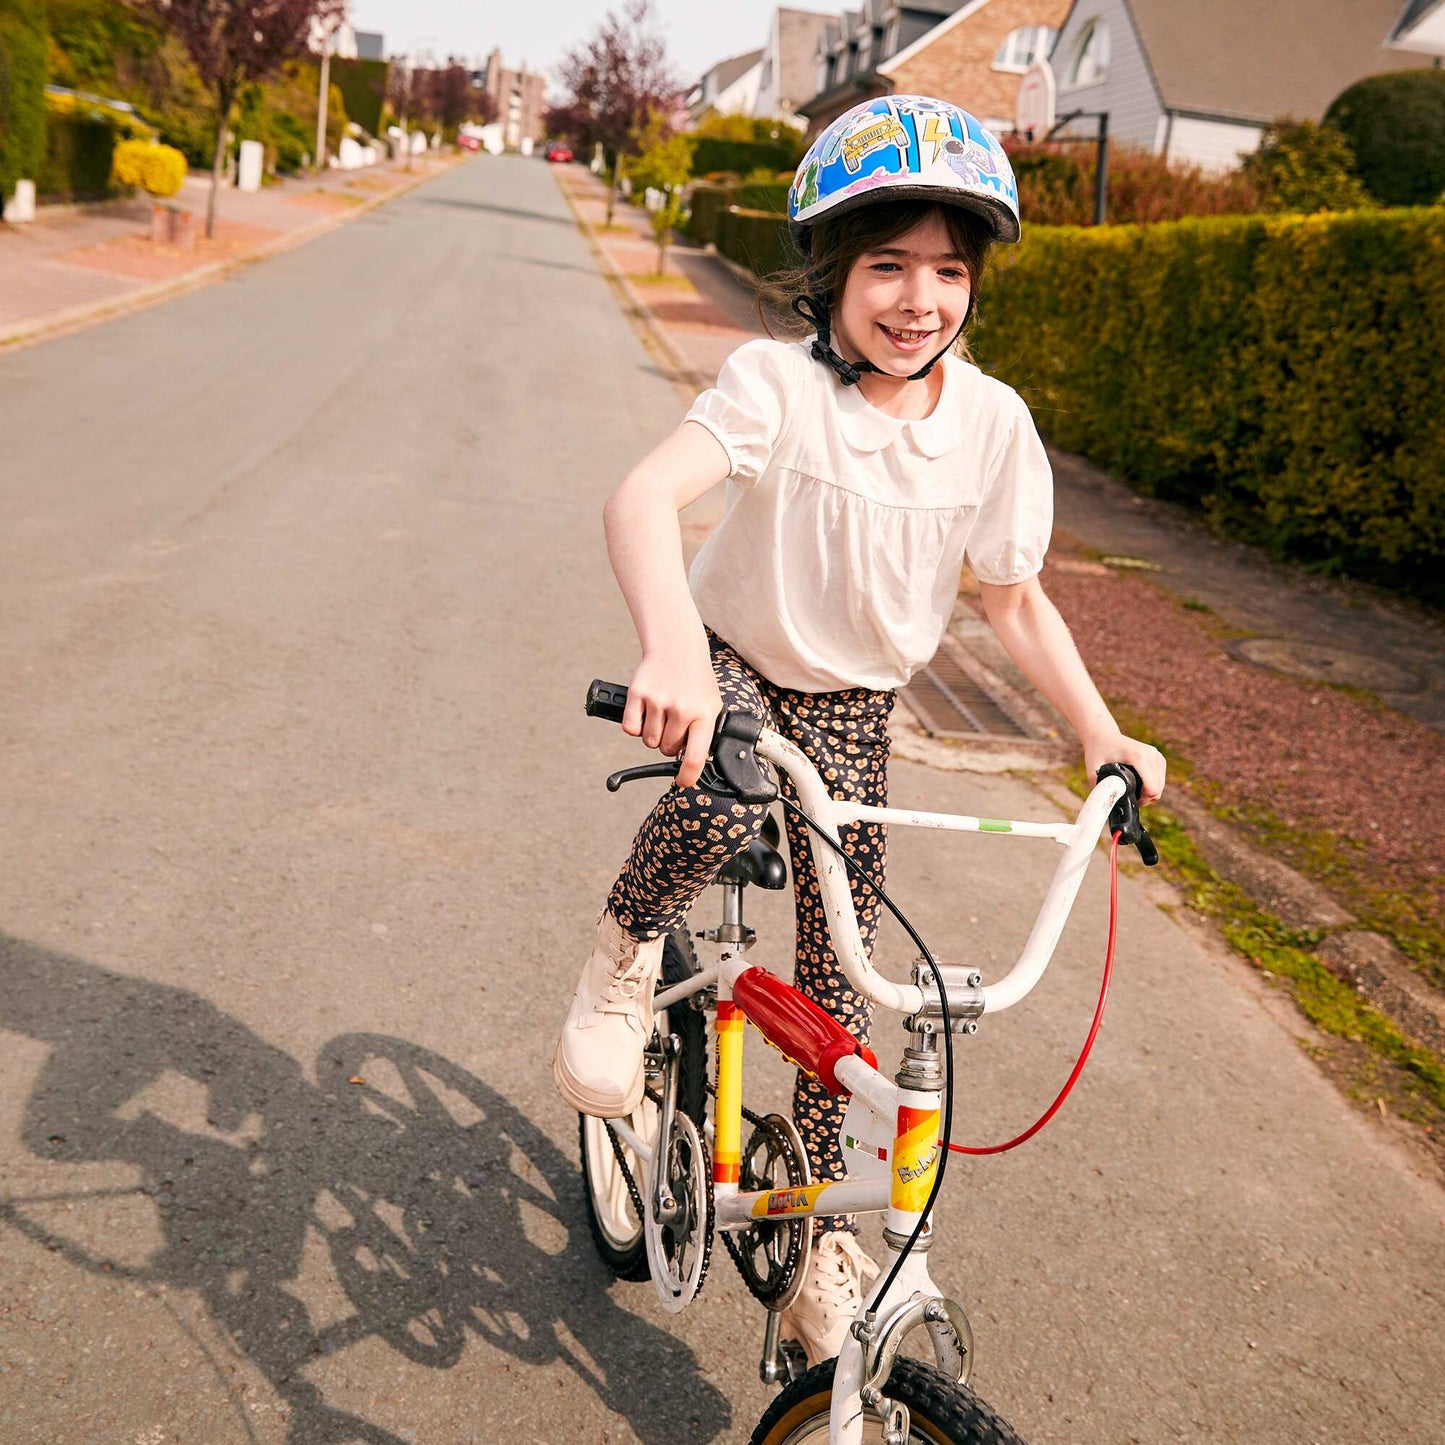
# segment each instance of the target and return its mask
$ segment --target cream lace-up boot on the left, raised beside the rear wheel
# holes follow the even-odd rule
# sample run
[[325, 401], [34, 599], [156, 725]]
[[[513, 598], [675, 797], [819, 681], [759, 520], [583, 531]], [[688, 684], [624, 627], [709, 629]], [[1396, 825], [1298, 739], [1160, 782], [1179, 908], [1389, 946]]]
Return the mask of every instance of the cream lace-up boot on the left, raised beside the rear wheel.
[[621, 1118], [642, 1103], [662, 945], [660, 938], [639, 942], [611, 913], [597, 920], [597, 944], [552, 1061], [558, 1092], [579, 1114]]

